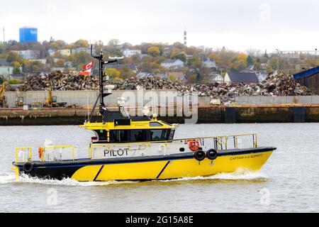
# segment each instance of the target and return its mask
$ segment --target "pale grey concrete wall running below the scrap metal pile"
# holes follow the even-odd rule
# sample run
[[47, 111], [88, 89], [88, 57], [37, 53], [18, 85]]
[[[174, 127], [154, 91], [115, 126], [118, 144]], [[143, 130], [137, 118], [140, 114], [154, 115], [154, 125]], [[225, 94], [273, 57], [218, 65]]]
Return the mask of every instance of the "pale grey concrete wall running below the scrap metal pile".
[[[166, 96], [168, 100], [174, 100], [177, 96], [175, 90], [147, 90], [143, 91], [144, 101], [150, 100], [152, 93], [159, 97]], [[26, 104], [32, 104], [33, 102], [44, 103], [48, 96], [48, 92], [44, 91], [30, 91], [30, 92], [5, 92], [7, 104], [10, 108], [16, 106], [16, 96], [21, 94]], [[52, 95], [57, 96], [58, 102], [67, 102], [67, 105], [77, 106], [93, 106], [98, 96], [98, 91], [52, 91]], [[114, 90], [110, 96], [107, 97], [108, 106], [116, 106], [118, 97], [125, 96], [127, 94], [133, 94], [138, 97], [137, 90]], [[187, 97], [184, 97], [186, 102]], [[160, 102], [160, 100], [159, 100]], [[198, 96], [198, 105], [206, 106], [210, 105], [211, 97]], [[159, 103], [160, 104], [160, 103]], [[170, 101], [169, 105], [176, 105], [175, 101]], [[263, 105], [263, 104], [319, 104], [319, 96], [237, 96], [235, 97], [235, 104], [237, 105]], [[138, 106], [138, 103], [135, 104]]]

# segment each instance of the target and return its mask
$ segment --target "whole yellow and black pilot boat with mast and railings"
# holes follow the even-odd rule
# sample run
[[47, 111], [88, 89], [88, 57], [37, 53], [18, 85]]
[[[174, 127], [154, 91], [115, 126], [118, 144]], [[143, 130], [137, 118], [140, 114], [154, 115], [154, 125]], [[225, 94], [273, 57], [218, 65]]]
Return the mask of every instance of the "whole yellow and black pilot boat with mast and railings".
[[103, 65], [118, 59], [103, 60], [103, 52], [93, 55], [92, 47], [91, 56], [99, 60], [99, 96], [91, 116], [99, 101], [102, 121], [90, 122], [90, 116], [79, 126], [94, 133], [87, 157], [77, 158], [72, 145], [50, 141], [38, 149], [40, 160], [33, 160], [30, 147], [16, 148], [17, 179], [21, 174], [79, 182], [206, 177], [238, 169], [257, 171], [276, 150], [259, 147], [254, 133], [174, 139], [179, 126], [158, 120], [156, 114], [130, 116], [121, 104], [116, 111], [108, 110], [104, 98], [111, 89], [104, 91]]

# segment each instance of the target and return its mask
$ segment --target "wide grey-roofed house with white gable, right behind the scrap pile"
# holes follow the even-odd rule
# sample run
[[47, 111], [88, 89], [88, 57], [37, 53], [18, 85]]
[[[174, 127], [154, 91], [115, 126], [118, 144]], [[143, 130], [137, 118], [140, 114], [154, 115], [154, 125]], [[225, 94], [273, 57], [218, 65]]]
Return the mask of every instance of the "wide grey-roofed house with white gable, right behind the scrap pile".
[[228, 84], [257, 84], [258, 78], [255, 72], [226, 72], [224, 82]]

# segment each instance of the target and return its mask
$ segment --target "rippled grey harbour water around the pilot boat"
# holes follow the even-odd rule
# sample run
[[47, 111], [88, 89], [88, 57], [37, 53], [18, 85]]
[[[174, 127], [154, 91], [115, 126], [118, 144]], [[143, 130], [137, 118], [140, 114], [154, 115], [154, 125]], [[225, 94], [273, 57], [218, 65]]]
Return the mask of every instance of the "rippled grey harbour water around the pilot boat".
[[[318, 212], [319, 123], [181, 125], [176, 138], [258, 133], [278, 148], [259, 172], [151, 182], [76, 182], [22, 177], [14, 148], [77, 145], [86, 155], [90, 131], [77, 126], [0, 127], [1, 212]], [[35, 150], [36, 151], [36, 150]], [[34, 153], [37, 156], [37, 153]]]

